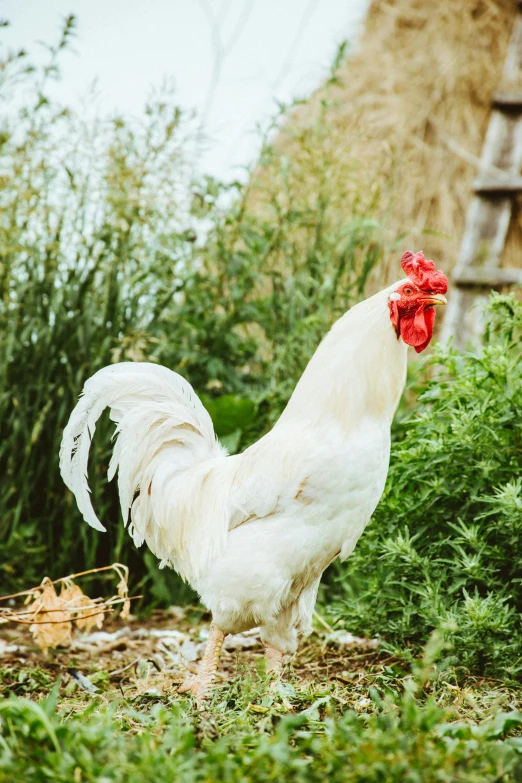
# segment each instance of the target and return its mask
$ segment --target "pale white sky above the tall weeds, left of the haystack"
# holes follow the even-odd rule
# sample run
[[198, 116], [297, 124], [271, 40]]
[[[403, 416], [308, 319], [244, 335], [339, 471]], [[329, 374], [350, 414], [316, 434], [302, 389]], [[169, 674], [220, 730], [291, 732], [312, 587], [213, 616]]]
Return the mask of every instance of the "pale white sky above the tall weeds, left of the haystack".
[[103, 109], [137, 114], [150, 87], [167, 77], [179, 104], [203, 120], [209, 143], [201, 169], [230, 179], [255, 155], [256, 124], [275, 99], [306, 96], [321, 83], [369, 2], [0, 0], [0, 16], [11, 22], [0, 40], [34, 52], [37, 40], [54, 43], [74, 13], [77, 38], [62, 59], [60, 100], [78, 106], [97, 80]]

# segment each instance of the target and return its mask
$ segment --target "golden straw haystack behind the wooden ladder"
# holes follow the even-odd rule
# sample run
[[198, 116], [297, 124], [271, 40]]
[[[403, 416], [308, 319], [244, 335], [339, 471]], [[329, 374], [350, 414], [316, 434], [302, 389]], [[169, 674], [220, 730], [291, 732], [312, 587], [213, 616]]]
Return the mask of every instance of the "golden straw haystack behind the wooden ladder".
[[[373, 193], [374, 216], [385, 226], [393, 276], [397, 253], [411, 247], [444, 269], [455, 265], [515, 14], [513, 0], [373, 0], [342, 66], [328, 109], [332, 177], [341, 182], [356, 161], [357, 187]], [[290, 125], [309, 125], [324, 95], [319, 90]], [[279, 146], [291, 155], [290, 125]], [[514, 210], [506, 253], [521, 249]], [[513, 257], [505, 263], [521, 265]]]

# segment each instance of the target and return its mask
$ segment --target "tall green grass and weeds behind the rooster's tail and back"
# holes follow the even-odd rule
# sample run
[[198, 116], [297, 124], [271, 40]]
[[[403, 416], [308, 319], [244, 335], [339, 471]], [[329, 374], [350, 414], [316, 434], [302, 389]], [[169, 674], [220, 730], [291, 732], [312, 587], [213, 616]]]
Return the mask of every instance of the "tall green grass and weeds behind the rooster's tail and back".
[[50, 83], [73, 32], [70, 18], [42, 67], [24, 53], [0, 63], [12, 101], [0, 116], [0, 589], [123, 560], [134, 584], [148, 579], [147, 600], [172, 601], [178, 583], [134, 549], [106, 486], [107, 421], [89, 476], [105, 536], [59, 476], [84, 381], [114, 361], [162, 362], [202, 394], [230, 450], [243, 448], [364, 295], [379, 232], [355, 168], [344, 191], [329, 180], [324, 118], [300, 131], [297, 162], [265, 140], [271, 177], [254, 167], [249, 184], [225, 186], [192, 177], [195, 128], [171, 95], [133, 121], [58, 105]]

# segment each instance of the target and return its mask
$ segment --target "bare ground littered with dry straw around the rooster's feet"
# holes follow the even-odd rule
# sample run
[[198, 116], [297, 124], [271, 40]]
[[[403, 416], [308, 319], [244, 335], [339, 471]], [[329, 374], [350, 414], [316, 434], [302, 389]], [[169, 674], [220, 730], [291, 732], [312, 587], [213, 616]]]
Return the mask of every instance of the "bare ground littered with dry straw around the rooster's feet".
[[[72, 714], [94, 697], [110, 702], [123, 696], [143, 707], [151, 701], [187, 700], [177, 688], [194, 671], [205, 645], [208, 618], [189, 608], [157, 612], [146, 620], [113, 620], [103, 631], [76, 634], [67, 646], [43, 653], [27, 627], [10, 626], [0, 635], [0, 691], [40, 699], [59, 688], [60, 709]], [[319, 618], [320, 620], [321, 618]], [[384, 695], [400, 690], [409, 666], [376, 648], [374, 640], [350, 637], [346, 632], [318, 630], [304, 640], [286, 666], [288, 697], [282, 708], [292, 710], [319, 694], [328, 693], [340, 710], [371, 709], [369, 691]], [[252, 690], [250, 708], [264, 710], [252, 683], [264, 678], [262, 645], [256, 631], [228, 637], [217, 686], [230, 695]], [[248, 685], [250, 683], [250, 686]], [[456, 708], [459, 717], [473, 717], [485, 709], [520, 708], [520, 689], [498, 680], [464, 677], [457, 681], [443, 672], [427, 681], [427, 695]]]

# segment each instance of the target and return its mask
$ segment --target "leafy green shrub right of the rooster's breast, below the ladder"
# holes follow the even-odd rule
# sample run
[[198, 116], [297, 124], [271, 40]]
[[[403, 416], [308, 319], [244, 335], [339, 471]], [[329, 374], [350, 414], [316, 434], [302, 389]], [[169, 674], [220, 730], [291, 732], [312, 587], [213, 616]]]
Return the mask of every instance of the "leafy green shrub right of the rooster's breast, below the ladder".
[[445, 628], [454, 661], [522, 671], [522, 303], [493, 295], [483, 348], [438, 347], [335, 614], [398, 649]]

